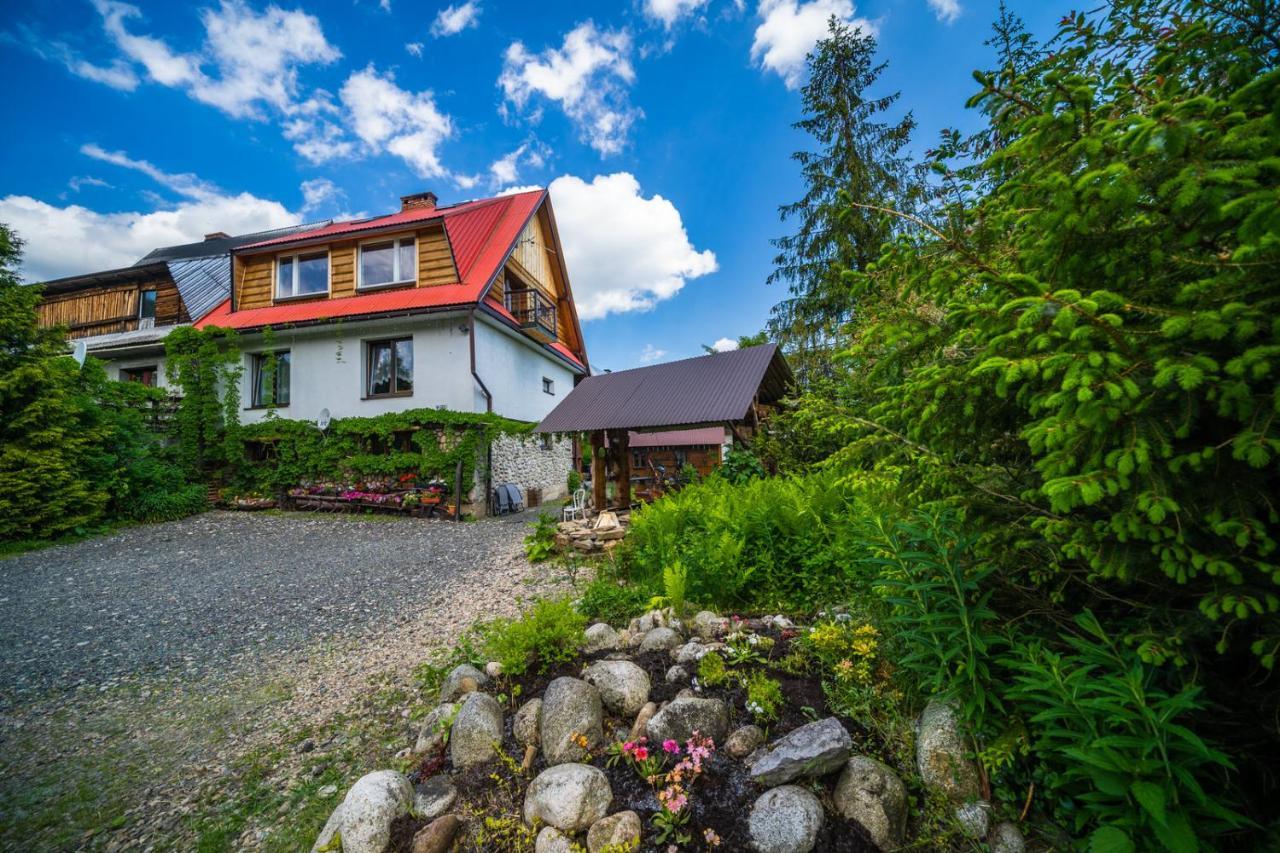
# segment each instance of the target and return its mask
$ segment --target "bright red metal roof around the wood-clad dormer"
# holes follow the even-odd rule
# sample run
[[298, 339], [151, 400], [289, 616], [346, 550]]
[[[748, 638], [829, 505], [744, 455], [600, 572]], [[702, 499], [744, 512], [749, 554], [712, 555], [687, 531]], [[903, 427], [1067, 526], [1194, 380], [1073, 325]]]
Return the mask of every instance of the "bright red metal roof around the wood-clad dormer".
[[[219, 325], [232, 329], [256, 329], [264, 325], [305, 323], [333, 318], [379, 315], [396, 311], [431, 310], [475, 305], [489, 282], [502, 268], [529, 218], [545, 196], [544, 190], [520, 192], [498, 199], [468, 201], [452, 207], [407, 210], [389, 216], [376, 216], [351, 223], [335, 223], [276, 240], [244, 246], [250, 252], [265, 247], [282, 247], [298, 242], [315, 242], [352, 232], [381, 229], [407, 223], [444, 220], [444, 231], [453, 248], [460, 280], [394, 291], [376, 291], [355, 296], [284, 302], [260, 309], [232, 311], [230, 302], [214, 309], [196, 325]], [[567, 350], [566, 350], [567, 351]], [[581, 364], [577, 357], [571, 356]]]

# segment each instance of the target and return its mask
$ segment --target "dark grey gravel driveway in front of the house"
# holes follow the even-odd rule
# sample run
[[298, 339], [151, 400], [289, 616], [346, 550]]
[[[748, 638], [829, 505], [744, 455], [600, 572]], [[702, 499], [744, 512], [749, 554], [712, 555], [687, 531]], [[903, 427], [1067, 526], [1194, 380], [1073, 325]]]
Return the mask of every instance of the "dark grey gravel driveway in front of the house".
[[389, 628], [518, 549], [525, 519], [209, 512], [0, 561], [0, 708]]

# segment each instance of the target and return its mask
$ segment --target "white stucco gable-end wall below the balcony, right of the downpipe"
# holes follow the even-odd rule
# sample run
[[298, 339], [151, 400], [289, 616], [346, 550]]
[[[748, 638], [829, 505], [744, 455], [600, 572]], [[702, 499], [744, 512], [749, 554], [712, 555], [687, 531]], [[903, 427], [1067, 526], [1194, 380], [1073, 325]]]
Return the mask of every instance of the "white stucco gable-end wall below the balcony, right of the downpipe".
[[[493, 393], [493, 410], [516, 420], [545, 418], [573, 389], [573, 373], [522, 334], [476, 320], [476, 371]], [[543, 392], [544, 377], [552, 380], [553, 393]], [[484, 405], [476, 388], [475, 411], [484, 411]]]

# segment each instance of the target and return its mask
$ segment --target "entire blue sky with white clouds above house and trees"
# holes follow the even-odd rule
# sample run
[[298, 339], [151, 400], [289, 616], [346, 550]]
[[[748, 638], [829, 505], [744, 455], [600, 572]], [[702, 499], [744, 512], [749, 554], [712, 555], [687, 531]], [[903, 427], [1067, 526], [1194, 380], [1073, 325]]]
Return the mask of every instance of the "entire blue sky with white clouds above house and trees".
[[[1012, 0], [1038, 36], [1069, 8]], [[873, 28], [915, 150], [970, 128], [979, 0], [8, 4], [0, 222], [29, 280], [209, 231], [550, 186], [596, 368], [759, 330], [795, 87], [829, 14]]]

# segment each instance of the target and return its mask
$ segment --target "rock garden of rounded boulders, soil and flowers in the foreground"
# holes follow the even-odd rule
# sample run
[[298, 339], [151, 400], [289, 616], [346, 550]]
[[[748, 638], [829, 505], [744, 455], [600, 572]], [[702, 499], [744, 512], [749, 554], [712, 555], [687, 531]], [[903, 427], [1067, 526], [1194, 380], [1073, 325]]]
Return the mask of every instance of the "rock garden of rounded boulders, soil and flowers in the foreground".
[[874, 629], [845, 615], [584, 628], [543, 602], [489, 637], [472, 652], [495, 660], [440, 670], [397, 766], [351, 786], [314, 853], [1025, 849], [948, 706], [899, 744], [828, 711], [809, 662], [838, 648], [873, 678]]

